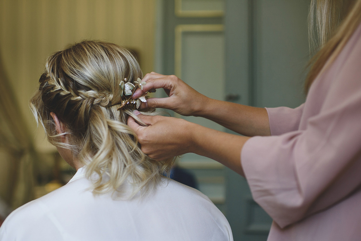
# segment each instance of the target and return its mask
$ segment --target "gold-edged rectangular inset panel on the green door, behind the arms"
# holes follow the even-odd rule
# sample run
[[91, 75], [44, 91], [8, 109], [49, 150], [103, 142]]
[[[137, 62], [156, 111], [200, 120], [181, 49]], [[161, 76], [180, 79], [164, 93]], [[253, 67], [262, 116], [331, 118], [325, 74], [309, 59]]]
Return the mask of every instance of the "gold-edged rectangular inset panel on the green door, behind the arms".
[[[223, 25], [178, 25], [175, 31], [175, 75], [203, 95], [223, 100], [225, 87]], [[182, 118], [224, 131], [224, 127], [205, 118], [193, 116]]]

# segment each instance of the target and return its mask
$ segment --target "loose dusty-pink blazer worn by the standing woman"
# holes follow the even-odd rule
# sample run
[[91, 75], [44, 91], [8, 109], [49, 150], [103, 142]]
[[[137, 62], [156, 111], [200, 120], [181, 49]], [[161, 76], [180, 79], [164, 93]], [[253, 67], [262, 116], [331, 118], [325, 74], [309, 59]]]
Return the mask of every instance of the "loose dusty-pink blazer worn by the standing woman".
[[272, 136], [241, 161], [268, 240], [361, 240], [361, 25], [303, 105], [267, 111]]

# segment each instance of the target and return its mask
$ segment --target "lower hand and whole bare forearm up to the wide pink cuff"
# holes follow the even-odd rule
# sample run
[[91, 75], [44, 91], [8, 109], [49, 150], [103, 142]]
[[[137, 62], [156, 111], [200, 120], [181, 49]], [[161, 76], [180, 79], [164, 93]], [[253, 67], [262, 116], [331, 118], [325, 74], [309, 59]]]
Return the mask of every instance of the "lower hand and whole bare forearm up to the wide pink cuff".
[[212, 130], [174, 117], [134, 114], [148, 126], [129, 117], [128, 126], [138, 136], [142, 151], [162, 161], [184, 153], [212, 158], [243, 175], [240, 152], [249, 137]]

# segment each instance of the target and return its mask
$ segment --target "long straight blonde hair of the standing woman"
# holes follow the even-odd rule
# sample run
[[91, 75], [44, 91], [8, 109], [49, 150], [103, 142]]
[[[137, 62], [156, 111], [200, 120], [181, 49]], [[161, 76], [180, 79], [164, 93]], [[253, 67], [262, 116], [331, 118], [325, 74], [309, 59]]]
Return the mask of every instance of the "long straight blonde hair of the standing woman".
[[310, 71], [305, 81], [306, 92], [322, 69], [329, 67], [342, 51], [360, 22], [361, 0], [311, 0], [310, 48], [314, 48], [314, 45], [321, 48], [309, 62]]

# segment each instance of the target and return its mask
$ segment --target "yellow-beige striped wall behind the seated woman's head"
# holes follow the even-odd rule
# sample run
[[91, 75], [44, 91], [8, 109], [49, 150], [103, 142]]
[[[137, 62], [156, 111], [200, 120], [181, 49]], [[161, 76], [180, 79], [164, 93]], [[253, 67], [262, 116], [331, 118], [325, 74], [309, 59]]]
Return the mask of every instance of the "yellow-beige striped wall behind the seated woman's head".
[[43, 141], [28, 102], [45, 58], [81, 39], [111, 41], [139, 52], [143, 73], [153, 70], [155, 0], [0, 0], [0, 53], [35, 145]]

